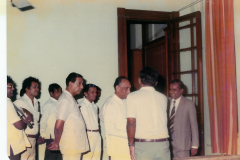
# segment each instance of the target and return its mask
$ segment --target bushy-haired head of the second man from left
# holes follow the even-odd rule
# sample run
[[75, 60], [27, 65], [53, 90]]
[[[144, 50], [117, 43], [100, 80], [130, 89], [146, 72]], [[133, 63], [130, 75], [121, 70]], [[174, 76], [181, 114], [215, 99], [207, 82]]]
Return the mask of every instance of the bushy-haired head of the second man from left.
[[36, 97], [39, 93], [40, 82], [37, 78], [28, 77], [24, 79], [22, 83], [22, 89], [20, 91], [20, 96], [26, 93], [29, 97]]

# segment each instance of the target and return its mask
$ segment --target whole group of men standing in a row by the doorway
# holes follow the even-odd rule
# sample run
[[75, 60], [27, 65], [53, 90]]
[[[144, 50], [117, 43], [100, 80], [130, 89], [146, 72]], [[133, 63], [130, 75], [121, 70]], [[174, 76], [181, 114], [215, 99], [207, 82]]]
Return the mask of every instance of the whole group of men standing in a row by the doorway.
[[[99, 114], [106, 130], [102, 136], [106, 138], [110, 160], [170, 160], [170, 148], [173, 157], [189, 156], [190, 150], [191, 155], [197, 153], [199, 142], [195, 105], [182, 96], [183, 83], [180, 80], [171, 82], [170, 99], [155, 91], [157, 77], [155, 69], [143, 68], [138, 79], [141, 88], [132, 93], [126, 77], [115, 80], [115, 93], [105, 101]], [[21, 98], [13, 104], [9, 99], [14, 90], [13, 81], [10, 77], [7, 79], [10, 159], [19, 159], [20, 156], [23, 160], [35, 159], [36, 143], [44, 142], [47, 144], [46, 160], [100, 159], [101, 136], [94, 103], [96, 85], [83, 87], [83, 77], [78, 73], [68, 75], [67, 87], [63, 92], [59, 85], [51, 84], [51, 98], [43, 106], [41, 135], [38, 137], [40, 113], [35, 97], [39, 92], [39, 81], [33, 77], [25, 79]], [[78, 104], [74, 96], [82, 90], [85, 97]], [[19, 118], [16, 109], [24, 112], [26, 118]], [[32, 128], [29, 127], [31, 122], [34, 123]], [[19, 134], [12, 133], [10, 129]], [[11, 140], [12, 137], [15, 141]]]

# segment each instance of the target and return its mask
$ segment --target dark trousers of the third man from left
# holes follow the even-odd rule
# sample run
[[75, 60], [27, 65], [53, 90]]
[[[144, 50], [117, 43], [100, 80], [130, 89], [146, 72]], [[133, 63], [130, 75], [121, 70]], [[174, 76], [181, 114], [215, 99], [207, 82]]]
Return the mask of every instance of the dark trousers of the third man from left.
[[[45, 139], [46, 146], [48, 146], [53, 139]], [[51, 151], [46, 148], [44, 160], [62, 160], [62, 154], [60, 151]]]

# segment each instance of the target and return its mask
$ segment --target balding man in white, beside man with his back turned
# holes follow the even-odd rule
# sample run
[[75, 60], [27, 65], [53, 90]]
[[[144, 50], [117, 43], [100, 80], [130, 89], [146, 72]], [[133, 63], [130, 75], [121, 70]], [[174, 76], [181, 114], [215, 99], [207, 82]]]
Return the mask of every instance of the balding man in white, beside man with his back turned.
[[130, 160], [126, 131], [125, 99], [130, 93], [131, 84], [126, 77], [118, 77], [114, 83], [115, 93], [107, 98], [100, 119], [106, 130], [107, 152], [110, 160]]

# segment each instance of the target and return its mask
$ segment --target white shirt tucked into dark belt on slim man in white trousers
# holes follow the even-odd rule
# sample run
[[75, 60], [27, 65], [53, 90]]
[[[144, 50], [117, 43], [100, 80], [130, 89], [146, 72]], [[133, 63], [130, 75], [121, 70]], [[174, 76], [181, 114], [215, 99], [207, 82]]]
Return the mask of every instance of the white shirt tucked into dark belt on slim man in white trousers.
[[84, 98], [83, 101], [79, 103], [79, 106], [87, 129], [88, 130], [99, 129], [97, 114], [98, 107], [94, 104], [94, 102], [90, 103], [86, 98]]

